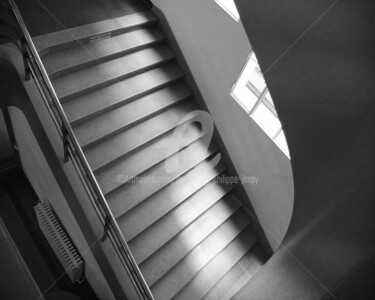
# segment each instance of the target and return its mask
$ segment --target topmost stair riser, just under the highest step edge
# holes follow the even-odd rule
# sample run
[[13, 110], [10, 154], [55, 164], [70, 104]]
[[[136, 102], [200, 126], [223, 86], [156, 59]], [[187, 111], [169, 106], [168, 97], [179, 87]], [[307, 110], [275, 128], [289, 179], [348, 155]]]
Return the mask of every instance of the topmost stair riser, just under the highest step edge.
[[157, 22], [158, 22], [157, 20], [152, 20], [152, 21], [149, 21], [148, 23], [137, 24], [135, 26], [130, 26], [130, 27], [126, 27], [126, 28], [118, 28], [118, 29], [115, 29], [115, 30], [107, 30], [107, 31], [103, 31], [103, 32], [95, 34], [95, 35], [85, 36], [83, 38], [78, 38], [78, 39], [75, 39], [75, 38], [72, 37], [72, 39], [73, 39], [72, 41], [64, 42], [64, 43], [61, 43], [61, 44], [58, 44], [58, 45], [54, 45], [54, 46], [39, 50], [39, 56], [43, 57], [44, 55], [55, 53], [55, 52], [62, 51], [62, 50], [66, 50], [66, 49], [69, 49], [69, 48], [88, 45], [88, 44], [90, 44], [90, 39], [99, 35], [99, 34], [100, 35], [106, 35], [106, 34], [109, 35], [110, 34], [111, 36], [116, 36], [116, 35], [119, 35], [119, 34], [123, 34], [123, 33], [126, 33], [126, 32], [136, 30], [136, 29], [147, 28], [147, 27], [153, 26]]

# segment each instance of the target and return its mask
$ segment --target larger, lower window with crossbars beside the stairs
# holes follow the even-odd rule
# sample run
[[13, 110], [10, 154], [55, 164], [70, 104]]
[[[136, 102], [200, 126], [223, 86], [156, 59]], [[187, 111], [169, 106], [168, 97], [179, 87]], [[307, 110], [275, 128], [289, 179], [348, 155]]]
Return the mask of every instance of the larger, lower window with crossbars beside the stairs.
[[254, 51], [234, 84], [231, 96], [289, 157], [285, 135]]

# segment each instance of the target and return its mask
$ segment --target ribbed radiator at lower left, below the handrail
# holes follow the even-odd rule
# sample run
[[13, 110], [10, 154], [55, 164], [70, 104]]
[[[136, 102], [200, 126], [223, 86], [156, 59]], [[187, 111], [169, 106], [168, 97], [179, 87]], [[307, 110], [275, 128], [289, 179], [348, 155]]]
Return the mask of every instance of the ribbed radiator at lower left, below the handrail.
[[53, 208], [44, 200], [35, 206], [35, 212], [41, 231], [70, 280], [73, 283], [81, 283], [83, 281], [82, 257], [70, 241]]

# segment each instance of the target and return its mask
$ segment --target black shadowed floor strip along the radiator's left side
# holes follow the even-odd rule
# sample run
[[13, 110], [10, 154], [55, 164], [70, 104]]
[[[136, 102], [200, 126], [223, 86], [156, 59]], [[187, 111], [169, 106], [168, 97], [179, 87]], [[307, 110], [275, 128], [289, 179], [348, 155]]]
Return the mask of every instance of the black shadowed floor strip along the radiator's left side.
[[67, 291], [82, 300], [97, 299], [87, 281], [72, 284], [39, 229], [34, 206], [38, 203], [20, 167], [0, 181], [0, 218], [13, 238], [42, 293]]

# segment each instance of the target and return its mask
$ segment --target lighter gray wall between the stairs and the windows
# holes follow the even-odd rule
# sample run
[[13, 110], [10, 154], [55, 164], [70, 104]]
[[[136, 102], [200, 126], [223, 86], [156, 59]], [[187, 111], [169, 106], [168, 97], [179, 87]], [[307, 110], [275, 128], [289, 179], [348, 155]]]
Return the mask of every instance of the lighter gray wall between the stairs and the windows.
[[237, 173], [259, 177], [245, 190], [275, 250], [293, 209], [292, 171], [289, 159], [229, 95], [251, 50], [243, 26], [213, 0], [153, 3], [169, 22]]

